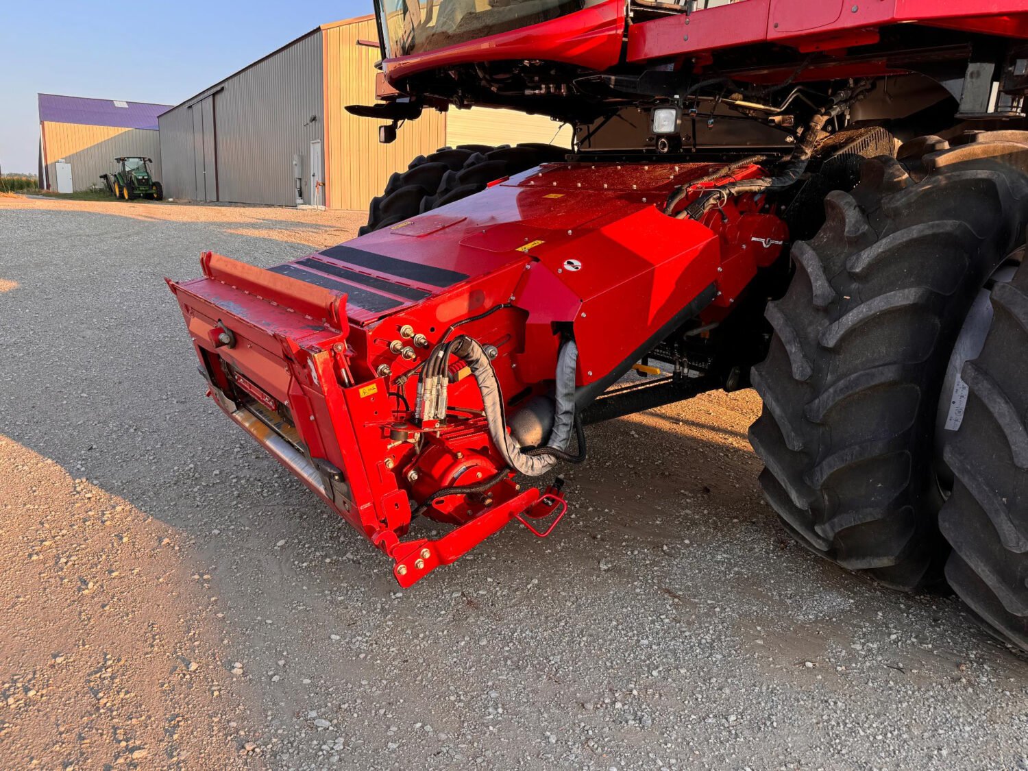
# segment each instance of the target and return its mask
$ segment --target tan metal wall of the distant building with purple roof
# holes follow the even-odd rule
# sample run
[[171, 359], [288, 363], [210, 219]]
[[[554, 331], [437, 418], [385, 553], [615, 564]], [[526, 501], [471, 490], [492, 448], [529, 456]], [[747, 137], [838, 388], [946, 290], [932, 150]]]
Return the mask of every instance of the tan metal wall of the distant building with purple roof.
[[155, 131], [44, 121], [42, 137], [51, 185], [57, 178], [54, 163], [64, 159], [71, 163], [74, 190], [102, 187], [100, 175], [113, 172], [117, 167], [114, 158], [125, 155], [153, 158], [154, 177], [161, 179], [160, 138]]

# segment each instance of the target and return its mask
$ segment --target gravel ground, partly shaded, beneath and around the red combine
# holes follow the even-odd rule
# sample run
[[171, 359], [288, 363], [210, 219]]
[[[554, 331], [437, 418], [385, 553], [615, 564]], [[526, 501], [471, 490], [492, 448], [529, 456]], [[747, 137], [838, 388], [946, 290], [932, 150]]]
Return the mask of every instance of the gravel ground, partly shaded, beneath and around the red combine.
[[0, 198], [0, 769], [1028, 770], [1028, 658], [792, 542], [752, 392], [591, 427], [549, 539], [401, 591], [162, 282], [362, 221]]

